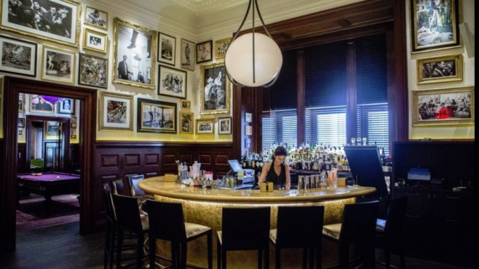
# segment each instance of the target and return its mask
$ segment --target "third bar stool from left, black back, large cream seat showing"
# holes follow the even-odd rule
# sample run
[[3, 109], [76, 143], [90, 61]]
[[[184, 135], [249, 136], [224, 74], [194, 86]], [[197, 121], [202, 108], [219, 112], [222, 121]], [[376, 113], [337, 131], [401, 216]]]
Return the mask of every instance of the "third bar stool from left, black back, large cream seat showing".
[[155, 268], [156, 239], [172, 243], [172, 263], [175, 268], [187, 267], [187, 244], [207, 236], [208, 269], [213, 268], [213, 232], [210, 227], [184, 222], [181, 203], [146, 200], [150, 230], [148, 232], [150, 268]]

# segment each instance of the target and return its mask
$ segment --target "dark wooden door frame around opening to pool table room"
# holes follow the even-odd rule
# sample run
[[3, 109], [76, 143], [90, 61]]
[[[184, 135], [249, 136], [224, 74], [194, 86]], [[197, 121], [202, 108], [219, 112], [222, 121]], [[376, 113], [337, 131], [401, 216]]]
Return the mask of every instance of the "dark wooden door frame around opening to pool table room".
[[95, 140], [97, 115], [97, 90], [74, 85], [61, 85], [40, 80], [11, 76], [4, 77], [4, 148], [1, 158], [4, 169], [0, 171], [0, 253], [15, 251], [16, 247], [16, 163], [18, 130], [18, 93], [53, 95], [81, 101], [82, 120], [79, 127], [81, 160], [80, 234], [94, 232], [95, 222], [90, 210], [94, 193], [91, 190], [95, 167]]

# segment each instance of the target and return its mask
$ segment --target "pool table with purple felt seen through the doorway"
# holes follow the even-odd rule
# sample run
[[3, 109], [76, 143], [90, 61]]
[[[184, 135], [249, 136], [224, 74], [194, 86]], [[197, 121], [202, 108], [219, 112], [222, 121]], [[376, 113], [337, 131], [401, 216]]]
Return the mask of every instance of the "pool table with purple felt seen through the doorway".
[[45, 208], [49, 212], [52, 196], [80, 193], [80, 176], [60, 172], [46, 172], [40, 175], [18, 174], [18, 191], [36, 193], [45, 197]]

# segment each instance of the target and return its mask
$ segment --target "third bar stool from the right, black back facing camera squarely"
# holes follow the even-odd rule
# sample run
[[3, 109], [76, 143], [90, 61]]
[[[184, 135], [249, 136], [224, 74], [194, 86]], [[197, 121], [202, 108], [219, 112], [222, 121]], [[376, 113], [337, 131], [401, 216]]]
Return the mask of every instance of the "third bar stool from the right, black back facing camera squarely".
[[278, 228], [271, 229], [269, 232], [269, 239], [275, 246], [277, 269], [281, 268], [281, 249], [303, 249], [302, 267], [306, 268], [309, 252], [309, 268], [314, 267], [314, 256], [316, 256], [316, 268], [321, 268], [323, 220], [324, 206], [322, 205], [278, 207], [276, 222]]

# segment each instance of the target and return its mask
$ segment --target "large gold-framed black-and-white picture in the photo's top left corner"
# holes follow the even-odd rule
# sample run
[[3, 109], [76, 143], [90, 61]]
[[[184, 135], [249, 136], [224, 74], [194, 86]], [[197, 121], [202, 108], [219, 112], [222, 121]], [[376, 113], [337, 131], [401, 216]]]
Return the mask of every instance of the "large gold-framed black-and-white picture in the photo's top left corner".
[[[71, 0], [42, 0], [43, 6], [53, 6], [57, 9], [57, 13], [62, 15], [61, 25], [55, 31], [51, 28], [47, 28], [47, 25], [43, 21], [19, 21], [15, 16], [16, 14], [13, 13], [21, 11], [21, 8], [17, 8], [17, 11], [12, 11], [10, 6], [11, 1], [4, 0], [0, 1], [0, 3], [0, 29], [40, 38], [41, 40], [78, 47], [81, 30], [80, 3]], [[40, 6], [40, 8], [43, 6]], [[32, 8], [32, 12], [35, 14], [37, 11]], [[23, 18], [23, 20], [25, 20], [25, 18]], [[64, 20], [67, 20], [67, 22], [64, 23]], [[61, 26], [65, 27], [61, 28]]]

